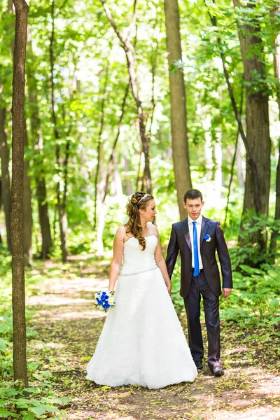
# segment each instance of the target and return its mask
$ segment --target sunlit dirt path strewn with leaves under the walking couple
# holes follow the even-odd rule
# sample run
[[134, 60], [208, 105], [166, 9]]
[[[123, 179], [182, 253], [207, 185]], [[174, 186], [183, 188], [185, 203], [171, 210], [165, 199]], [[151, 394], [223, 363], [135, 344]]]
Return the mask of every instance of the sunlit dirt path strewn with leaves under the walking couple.
[[[156, 391], [85, 381], [85, 367], [105, 319], [94, 309], [93, 293], [106, 288], [108, 262], [92, 267], [77, 260], [73, 267], [65, 269], [62, 277], [54, 262], [46, 262], [43, 275], [50, 274], [49, 279], [27, 302], [34, 309], [29, 325], [40, 340], [31, 346], [43, 360], [42, 368], [56, 372], [57, 395], [71, 398], [64, 409], [67, 419], [280, 419], [279, 330], [260, 327], [250, 332], [222, 323], [225, 375], [221, 378], [212, 377], [204, 367], [193, 384]], [[186, 315], [179, 316], [186, 331]]]

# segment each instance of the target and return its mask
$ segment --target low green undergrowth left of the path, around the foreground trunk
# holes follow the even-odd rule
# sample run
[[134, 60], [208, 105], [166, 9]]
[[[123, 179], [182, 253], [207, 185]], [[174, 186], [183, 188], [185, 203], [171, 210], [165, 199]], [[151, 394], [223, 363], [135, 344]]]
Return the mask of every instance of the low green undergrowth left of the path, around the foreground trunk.
[[[0, 251], [0, 418], [1, 419], [52, 419], [65, 416], [59, 406], [69, 402], [69, 398], [55, 395], [56, 382], [52, 373], [42, 370], [40, 361], [27, 363], [29, 388], [24, 388], [20, 381], [13, 382], [13, 321], [11, 313], [11, 278], [10, 255]], [[41, 276], [27, 279], [27, 296], [36, 293]], [[31, 311], [27, 311], [27, 325]], [[31, 342], [37, 336], [36, 331], [27, 327], [27, 339]], [[28, 355], [30, 350], [28, 349]]]

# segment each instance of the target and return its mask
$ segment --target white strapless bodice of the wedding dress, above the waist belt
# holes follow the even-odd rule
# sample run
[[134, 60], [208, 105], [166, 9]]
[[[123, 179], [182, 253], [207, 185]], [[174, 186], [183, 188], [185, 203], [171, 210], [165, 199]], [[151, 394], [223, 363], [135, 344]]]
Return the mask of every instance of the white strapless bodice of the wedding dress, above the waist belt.
[[123, 266], [121, 274], [130, 274], [156, 268], [155, 248], [158, 238], [155, 235], [145, 237], [146, 248], [142, 251], [138, 239], [132, 237], [123, 246]]

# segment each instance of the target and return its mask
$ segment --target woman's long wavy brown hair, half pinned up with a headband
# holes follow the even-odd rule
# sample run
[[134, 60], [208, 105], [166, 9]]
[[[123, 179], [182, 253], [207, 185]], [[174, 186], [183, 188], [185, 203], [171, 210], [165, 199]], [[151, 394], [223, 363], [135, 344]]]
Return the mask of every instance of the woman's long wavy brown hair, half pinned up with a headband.
[[134, 238], [138, 239], [139, 244], [142, 246], [142, 251], [146, 248], [146, 239], [143, 236], [143, 228], [140, 223], [139, 209], [146, 209], [148, 202], [153, 200], [153, 195], [145, 194], [142, 191], [132, 194], [127, 202], [127, 216], [129, 221], [126, 223], [126, 232], [132, 233]]

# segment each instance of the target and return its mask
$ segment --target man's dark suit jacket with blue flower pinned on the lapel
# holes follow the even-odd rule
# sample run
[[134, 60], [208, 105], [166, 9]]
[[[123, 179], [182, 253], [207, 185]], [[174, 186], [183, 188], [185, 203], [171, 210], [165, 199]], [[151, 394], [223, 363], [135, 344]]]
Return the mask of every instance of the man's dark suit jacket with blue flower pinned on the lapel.
[[[211, 237], [211, 241], [204, 239], [205, 235]], [[221, 295], [221, 281], [216, 260], [216, 250], [221, 264], [223, 276], [223, 288], [232, 288], [232, 267], [228, 246], [225, 243], [223, 230], [220, 222], [212, 221], [202, 216], [202, 229], [200, 235], [200, 254], [204, 274], [211, 290], [216, 296]], [[187, 297], [192, 281], [192, 247], [190, 243], [190, 232], [188, 230], [188, 218], [172, 225], [172, 232], [167, 248], [167, 271], [171, 279], [177, 255], [181, 255], [181, 290], [180, 295]]]

